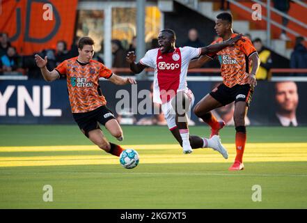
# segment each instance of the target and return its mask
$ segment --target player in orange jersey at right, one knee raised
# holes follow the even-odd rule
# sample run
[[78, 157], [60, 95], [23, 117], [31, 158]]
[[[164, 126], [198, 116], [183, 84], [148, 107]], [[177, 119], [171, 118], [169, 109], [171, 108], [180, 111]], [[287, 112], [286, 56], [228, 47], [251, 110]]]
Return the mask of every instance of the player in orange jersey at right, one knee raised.
[[[222, 43], [237, 36], [237, 34], [233, 33], [232, 26], [233, 16], [230, 13], [217, 15], [214, 29], [217, 31], [219, 38], [213, 43]], [[235, 101], [233, 118], [236, 130], [235, 145], [237, 156], [235, 157], [235, 163], [229, 170], [241, 170], [244, 169], [242, 157], [246, 144], [244, 118], [251, 102], [254, 87], [257, 84], [255, 74], [260, 65], [259, 56], [251, 40], [243, 37], [235, 45], [226, 47], [216, 54], [206, 54], [199, 59], [191, 61], [189, 69], [200, 68], [214, 56], [218, 56], [219, 62], [221, 63], [223, 84], [220, 84], [211, 93], [205, 95], [194, 107], [194, 113], [211, 126], [212, 137], [214, 134], [219, 134], [219, 130], [223, 128], [225, 123], [223, 121], [217, 121], [217, 118], [210, 111]]]

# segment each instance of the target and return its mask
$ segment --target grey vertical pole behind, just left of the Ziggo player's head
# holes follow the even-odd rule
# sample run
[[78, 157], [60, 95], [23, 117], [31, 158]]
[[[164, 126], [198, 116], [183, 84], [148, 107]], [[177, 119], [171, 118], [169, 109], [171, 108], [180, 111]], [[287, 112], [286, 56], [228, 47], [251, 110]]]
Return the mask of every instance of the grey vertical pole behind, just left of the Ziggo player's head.
[[[145, 4], [146, 0], [136, 0], [136, 61], [142, 59], [145, 54]], [[145, 70], [136, 77], [145, 79]]]

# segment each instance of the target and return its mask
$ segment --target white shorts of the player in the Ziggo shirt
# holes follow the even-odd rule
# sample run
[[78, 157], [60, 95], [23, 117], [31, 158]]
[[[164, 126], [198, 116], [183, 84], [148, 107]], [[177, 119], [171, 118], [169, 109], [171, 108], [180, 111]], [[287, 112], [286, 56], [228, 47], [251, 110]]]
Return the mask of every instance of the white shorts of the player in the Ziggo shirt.
[[[189, 97], [189, 100], [191, 102], [190, 106], [189, 106], [188, 113], [187, 113], [187, 116], [191, 117], [191, 108], [193, 107], [194, 100], [195, 100], [194, 94], [190, 89], [187, 89], [187, 91], [184, 91], [184, 93], [187, 94], [187, 96]], [[173, 130], [177, 127], [177, 125], [176, 125], [176, 114], [175, 114], [175, 111], [174, 111], [173, 106], [172, 106], [172, 100], [173, 99], [174, 98], [172, 98], [168, 102], [162, 104], [162, 107], [161, 107], [169, 130]]]

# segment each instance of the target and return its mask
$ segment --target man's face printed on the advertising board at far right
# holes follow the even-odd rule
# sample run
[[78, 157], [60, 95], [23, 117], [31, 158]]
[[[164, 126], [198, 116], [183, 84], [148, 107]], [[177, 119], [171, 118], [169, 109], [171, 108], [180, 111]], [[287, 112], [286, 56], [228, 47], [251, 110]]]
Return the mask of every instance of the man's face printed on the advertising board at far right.
[[294, 82], [281, 82], [276, 84], [276, 102], [283, 112], [293, 112], [297, 109], [299, 95]]

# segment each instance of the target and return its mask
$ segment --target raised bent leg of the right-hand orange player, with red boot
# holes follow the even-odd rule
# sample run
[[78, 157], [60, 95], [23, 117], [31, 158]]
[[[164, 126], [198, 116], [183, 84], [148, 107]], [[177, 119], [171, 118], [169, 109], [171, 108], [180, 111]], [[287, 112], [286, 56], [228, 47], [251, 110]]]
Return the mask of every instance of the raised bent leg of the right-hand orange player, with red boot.
[[200, 100], [194, 107], [194, 114], [199, 118], [203, 119], [205, 123], [211, 126], [210, 138], [214, 134], [219, 134], [219, 130], [223, 128], [225, 123], [223, 121], [217, 121], [217, 118], [210, 112], [213, 109], [222, 107], [221, 102], [215, 100], [209, 93]]

